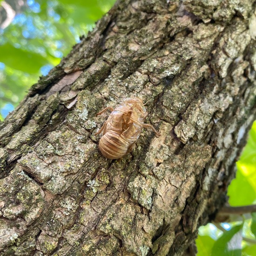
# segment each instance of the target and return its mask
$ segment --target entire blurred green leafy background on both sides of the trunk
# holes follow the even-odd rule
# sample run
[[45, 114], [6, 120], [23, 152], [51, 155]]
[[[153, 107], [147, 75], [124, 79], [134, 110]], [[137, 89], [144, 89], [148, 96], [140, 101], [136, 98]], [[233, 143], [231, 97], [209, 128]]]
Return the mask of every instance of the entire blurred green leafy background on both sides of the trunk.
[[[9, 0], [11, 1], [11, 0]], [[0, 0], [0, 5], [1, 5]], [[8, 2], [8, 0], [7, 0]], [[80, 36], [115, 0], [27, 0], [12, 23], [0, 28], [0, 120], [12, 111], [40, 75], [59, 64]], [[256, 203], [256, 122], [228, 188], [229, 204]], [[256, 214], [199, 229], [198, 256], [256, 256]], [[232, 221], [231, 218], [231, 221]]]

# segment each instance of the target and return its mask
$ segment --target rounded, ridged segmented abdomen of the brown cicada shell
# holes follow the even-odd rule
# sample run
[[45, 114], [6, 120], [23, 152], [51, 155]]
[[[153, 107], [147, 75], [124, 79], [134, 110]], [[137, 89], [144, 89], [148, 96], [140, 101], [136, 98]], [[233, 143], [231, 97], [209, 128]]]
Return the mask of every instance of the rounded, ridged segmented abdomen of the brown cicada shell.
[[130, 142], [124, 140], [115, 131], [105, 133], [99, 142], [101, 154], [108, 159], [118, 159], [127, 153]]

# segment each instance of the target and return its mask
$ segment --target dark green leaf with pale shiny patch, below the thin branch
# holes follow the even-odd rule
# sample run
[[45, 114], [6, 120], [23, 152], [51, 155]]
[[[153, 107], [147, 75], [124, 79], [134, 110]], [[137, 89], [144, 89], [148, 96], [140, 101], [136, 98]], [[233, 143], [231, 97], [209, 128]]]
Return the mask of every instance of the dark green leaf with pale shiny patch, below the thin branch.
[[[237, 225], [225, 231], [221, 237], [215, 242], [212, 247], [211, 256], [241, 256], [242, 253], [242, 225]], [[241, 231], [241, 234], [238, 232]], [[237, 235], [236, 235], [237, 234]], [[236, 236], [235, 236], [236, 235]], [[237, 248], [237, 239], [238, 243], [241, 240], [240, 246]], [[235, 245], [235, 248], [234, 248]]]

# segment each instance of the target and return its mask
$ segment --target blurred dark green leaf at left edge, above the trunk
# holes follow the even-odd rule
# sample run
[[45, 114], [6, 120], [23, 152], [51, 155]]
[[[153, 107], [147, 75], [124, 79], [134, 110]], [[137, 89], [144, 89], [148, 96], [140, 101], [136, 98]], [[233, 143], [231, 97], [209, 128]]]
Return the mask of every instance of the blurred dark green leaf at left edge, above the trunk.
[[15, 48], [9, 43], [0, 46], [0, 62], [29, 74], [38, 73], [40, 67], [48, 63], [42, 55]]

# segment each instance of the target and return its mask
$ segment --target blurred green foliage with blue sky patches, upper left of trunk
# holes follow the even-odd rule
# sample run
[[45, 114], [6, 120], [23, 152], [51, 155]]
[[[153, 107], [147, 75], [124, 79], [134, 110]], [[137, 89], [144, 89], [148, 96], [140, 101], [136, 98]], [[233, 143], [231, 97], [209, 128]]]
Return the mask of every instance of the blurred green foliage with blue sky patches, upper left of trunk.
[[[7, 0], [11, 4], [12, 0]], [[27, 0], [4, 30], [0, 28], [0, 120], [40, 75], [60, 63], [80, 36], [108, 12], [115, 0]], [[1, 1], [0, 1], [1, 5]]]

